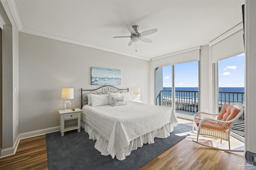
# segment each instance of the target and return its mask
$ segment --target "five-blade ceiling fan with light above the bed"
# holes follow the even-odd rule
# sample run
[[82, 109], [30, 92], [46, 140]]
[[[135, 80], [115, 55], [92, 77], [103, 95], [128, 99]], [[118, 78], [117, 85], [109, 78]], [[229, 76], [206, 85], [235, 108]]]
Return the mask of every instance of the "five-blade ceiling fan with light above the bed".
[[144, 36], [146, 35], [150, 35], [152, 33], [155, 33], [157, 31], [157, 29], [150, 29], [147, 31], [143, 31], [141, 33], [138, 32], [139, 26], [138, 25], [128, 25], [126, 24], [126, 27], [128, 28], [129, 32], [131, 33], [130, 36], [118, 36], [118, 37], [113, 37], [113, 38], [130, 38], [130, 42], [128, 43], [128, 45], [132, 45], [133, 43], [136, 43], [138, 41], [143, 41], [145, 43], [152, 43], [153, 41], [151, 41], [148, 38], [145, 38]]

